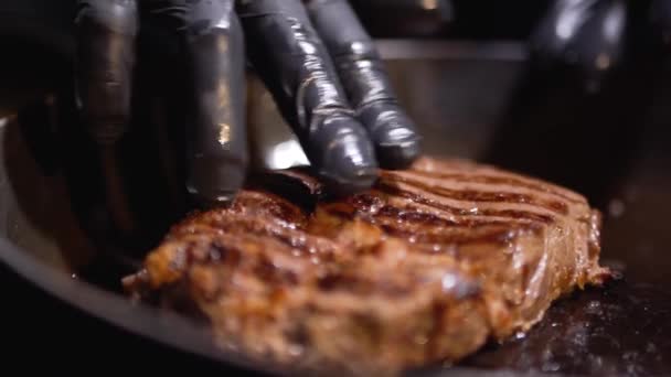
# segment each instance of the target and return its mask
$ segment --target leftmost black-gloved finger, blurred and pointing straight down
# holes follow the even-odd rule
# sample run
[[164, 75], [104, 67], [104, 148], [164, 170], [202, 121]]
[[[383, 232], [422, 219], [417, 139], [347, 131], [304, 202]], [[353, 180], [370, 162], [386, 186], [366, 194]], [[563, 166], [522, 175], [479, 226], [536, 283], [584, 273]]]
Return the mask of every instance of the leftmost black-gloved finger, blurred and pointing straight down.
[[105, 195], [115, 227], [134, 227], [117, 141], [130, 118], [138, 7], [135, 0], [79, 0], [76, 90], [83, 121], [99, 150]]

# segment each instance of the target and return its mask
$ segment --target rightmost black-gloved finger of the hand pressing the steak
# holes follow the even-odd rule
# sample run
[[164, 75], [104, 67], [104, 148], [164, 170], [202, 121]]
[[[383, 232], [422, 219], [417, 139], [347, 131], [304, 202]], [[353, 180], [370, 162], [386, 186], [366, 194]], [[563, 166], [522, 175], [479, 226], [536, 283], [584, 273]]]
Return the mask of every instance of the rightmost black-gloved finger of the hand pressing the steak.
[[401, 108], [373, 41], [347, 0], [308, 0], [308, 13], [327, 45], [340, 80], [376, 148], [380, 164], [408, 166], [420, 137]]

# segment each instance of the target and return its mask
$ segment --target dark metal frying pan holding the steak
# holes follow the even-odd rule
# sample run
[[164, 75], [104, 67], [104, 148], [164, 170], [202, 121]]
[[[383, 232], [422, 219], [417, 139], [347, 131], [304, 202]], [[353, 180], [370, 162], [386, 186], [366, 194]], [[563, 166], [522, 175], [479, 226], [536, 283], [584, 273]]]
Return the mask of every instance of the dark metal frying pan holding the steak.
[[[64, 35], [63, 50], [54, 51], [67, 56]], [[662, 101], [671, 85], [663, 69], [635, 64], [607, 91], [594, 95], [572, 84], [571, 73], [539, 76], [530, 72], [524, 46], [518, 43], [379, 43], [403, 104], [427, 136], [427, 153], [497, 163], [585, 193], [606, 214], [605, 262], [624, 276], [605, 288], [557, 302], [529, 334], [488, 345], [457, 366], [408, 374], [671, 373], [671, 280], [667, 273], [671, 257], [665, 252], [671, 239], [663, 222], [671, 207], [665, 194], [671, 188], [665, 169], [671, 158], [664, 143], [671, 138], [662, 121], [671, 119]], [[89, 234], [90, 224], [83, 219], [95, 219], [97, 208], [73, 195], [81, 191], [70, 186], [68, 160], [63, 158], [67, 146], [44, 142], [54, 143], [58, 139], [53, 130], [75, 122], [67, 106], [62, 106], [67, 84], [58, 77], [66, 77], [67, 71], [54, 69], [55, 78], [45, 74], [36, 83], [14, 77], [11, 97], [19, 90], [30, 95], [2, 108], [1, 279], [8, 277], [19, 292], [30, 291], [39, 300], [58, 302], [61, 311], [76, 313], [82, 321], [76, 326], [90, 328], [84, 325], [89, 320], [96, 323], [96, 334], [118, 332], [111, 348], [126, 357], [142, 353], [136, 363], [171, 368], [177, 359], [188, 359], [185, 365], [206, 365], [210, 370], [290, 375], [291, 370], [217, 349], [200, 323], [134, 304], [121, 294], [119, 278], [130, 271], [134, 259], [114, 257], [118, 250]], [[280, 151], [301, 161], [301, 151], [267, 93], [254, 78], [249, 87], [256, 163], [277, 168]], [[630, 93], [639, 95], [631, 98]], [[17, 300], [28, 300], [24, 293], [14, 294]], [[78, 330], [67, 331], [77, 336]], [[138, 338], [141, 346], [124, 354], [121, 349]], [[86, 340], [108, 349], [100, 344], [105, 338]]]

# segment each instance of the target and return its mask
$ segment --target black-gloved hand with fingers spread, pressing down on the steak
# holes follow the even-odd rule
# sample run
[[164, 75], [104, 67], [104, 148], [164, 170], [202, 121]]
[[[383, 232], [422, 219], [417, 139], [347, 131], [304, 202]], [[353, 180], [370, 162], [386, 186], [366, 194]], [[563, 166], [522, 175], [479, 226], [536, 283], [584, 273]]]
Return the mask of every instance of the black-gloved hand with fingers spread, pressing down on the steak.
[[245, 56], [332, 191], [366, 188], [379, 166], [405, 168], [419, 153], [345, 0], [79, 0], [76, 25], [77, 96], [106, 169], [132, 112], [137, 56], [171, 45], [182, 49], [191, 83], [187, 185], [201, 202], [228, 201], [244, 181]]

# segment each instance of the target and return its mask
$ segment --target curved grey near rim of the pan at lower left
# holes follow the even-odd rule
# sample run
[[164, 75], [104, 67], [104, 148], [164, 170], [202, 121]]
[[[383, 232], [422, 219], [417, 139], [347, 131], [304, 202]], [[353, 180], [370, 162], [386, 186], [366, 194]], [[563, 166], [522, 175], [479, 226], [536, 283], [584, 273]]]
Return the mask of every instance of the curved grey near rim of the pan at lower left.
[[0, 237], [0, 263], [7, 266], [25, 283], [126, 333], [139, 335], [185, 354], [205, 357], [222, 364], [222, 367], [274, 375], [287, 374], [270, 363], [259, 363], [242, 353], [215, 347], [206, 326], [199, 326], [187, 317], [146, 304], [132, 304], [119, 294], [68, 277], [49, 267], [38, 257], [22, 252], [3, 237]]

